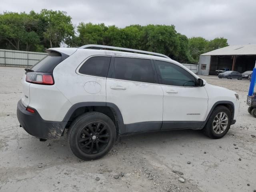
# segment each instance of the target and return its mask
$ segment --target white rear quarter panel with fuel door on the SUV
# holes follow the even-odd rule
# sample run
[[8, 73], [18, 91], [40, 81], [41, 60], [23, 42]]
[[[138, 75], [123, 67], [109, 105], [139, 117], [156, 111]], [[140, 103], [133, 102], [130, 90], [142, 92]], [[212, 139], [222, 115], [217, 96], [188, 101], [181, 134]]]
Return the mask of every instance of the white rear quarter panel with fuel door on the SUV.
[[[78, 66], [92, 55], [97, 55], [97, 52], [78, 49], [53, 71], [56, 87], [72, 105], [79, 102], [106, 102], [106, 78], [76, 73]], [[85, 84], [87, 88], [97, 86], [97, 91], [91, 91], [90, 88], [85, 90]]]

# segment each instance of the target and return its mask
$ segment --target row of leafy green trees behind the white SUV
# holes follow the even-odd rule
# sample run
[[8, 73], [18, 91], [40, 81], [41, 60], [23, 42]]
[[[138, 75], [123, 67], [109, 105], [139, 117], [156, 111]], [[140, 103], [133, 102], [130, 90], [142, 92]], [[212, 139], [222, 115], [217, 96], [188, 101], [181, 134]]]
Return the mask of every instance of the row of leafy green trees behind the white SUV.
[[80, 22], [74, 26], [63, 11], [41, 10], [40, 13], [4, 12], [0, 14], [0, 48], [44, 52], [51, 47], [79, 47], [102, 44], [125, 47], [169, 56], [181, 63], [197, 63], [200, 54], [228, 46], [227, 39], [217, 37], [187, 38], [174, 25], [130, 25], [118, 28], [104, 23]]

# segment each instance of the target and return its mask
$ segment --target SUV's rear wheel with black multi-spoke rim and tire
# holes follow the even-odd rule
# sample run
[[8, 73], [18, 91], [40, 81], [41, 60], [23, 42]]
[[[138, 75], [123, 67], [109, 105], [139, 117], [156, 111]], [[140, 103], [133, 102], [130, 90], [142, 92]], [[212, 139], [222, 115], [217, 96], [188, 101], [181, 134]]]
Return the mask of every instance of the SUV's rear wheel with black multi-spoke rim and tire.
[[95, 160], [105, 156], [114, 145], [116, 127], [100, 112], [88, 112], [70, 125], [68, 142], [75, 156], [82, 160]]

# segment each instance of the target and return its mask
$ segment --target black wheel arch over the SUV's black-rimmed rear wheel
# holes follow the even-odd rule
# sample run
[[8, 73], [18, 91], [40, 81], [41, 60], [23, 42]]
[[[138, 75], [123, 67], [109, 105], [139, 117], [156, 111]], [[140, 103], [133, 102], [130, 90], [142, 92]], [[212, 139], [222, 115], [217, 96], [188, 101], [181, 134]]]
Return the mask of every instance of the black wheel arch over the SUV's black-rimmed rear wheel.
[[125, 126], [122, 114], [118, 106], [109, 102], [80, 102], [74, 104], [63, 119], [65, 128], [67, 128], [76, 117], [91, 111], [101, 112], [108, 116], [116, 126], [117, 136], [124, 132]]

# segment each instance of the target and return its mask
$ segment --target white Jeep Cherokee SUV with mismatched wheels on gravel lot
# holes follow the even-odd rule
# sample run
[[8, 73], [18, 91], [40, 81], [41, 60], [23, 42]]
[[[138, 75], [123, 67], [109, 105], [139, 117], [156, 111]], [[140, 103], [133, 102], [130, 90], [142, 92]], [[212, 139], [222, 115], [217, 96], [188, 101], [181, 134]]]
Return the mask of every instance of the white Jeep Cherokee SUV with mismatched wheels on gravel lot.
[[25, 69], [18, 120], [40, 140], [68, 129], [78, 158], [101, 158], [125, 134], [189, 128], [216, 139], [236, 122], [236, 92], [165, 55], [100, 45], [47, 52]]

